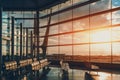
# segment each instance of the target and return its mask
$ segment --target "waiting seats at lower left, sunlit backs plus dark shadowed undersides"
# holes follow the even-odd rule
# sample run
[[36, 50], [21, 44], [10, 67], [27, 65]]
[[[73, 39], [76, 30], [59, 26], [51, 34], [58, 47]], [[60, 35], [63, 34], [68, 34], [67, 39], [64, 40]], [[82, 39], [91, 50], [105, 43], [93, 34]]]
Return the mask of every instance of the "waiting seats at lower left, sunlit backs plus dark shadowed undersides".
[[9, 61], [4, 62], [3, 71], [5, 76], [19, 76], [21, 74], [34, 73], [35, 71], [39, 71], [43, 68], [49, 68], [48, 65], [50, 62], [48, 59], [42, 60], [33, 60], [33, 59], [25, 59], [18, 61]]

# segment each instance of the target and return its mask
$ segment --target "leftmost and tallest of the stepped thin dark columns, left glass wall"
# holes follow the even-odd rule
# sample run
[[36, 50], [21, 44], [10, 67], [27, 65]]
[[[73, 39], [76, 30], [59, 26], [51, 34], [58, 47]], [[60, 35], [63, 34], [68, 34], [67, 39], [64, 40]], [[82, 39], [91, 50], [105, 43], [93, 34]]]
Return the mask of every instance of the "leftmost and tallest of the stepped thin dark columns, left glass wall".
[[12, 28], [11, 28], [11, 59], [14, 60], [14, 17], [11, 18], [12, 19]]

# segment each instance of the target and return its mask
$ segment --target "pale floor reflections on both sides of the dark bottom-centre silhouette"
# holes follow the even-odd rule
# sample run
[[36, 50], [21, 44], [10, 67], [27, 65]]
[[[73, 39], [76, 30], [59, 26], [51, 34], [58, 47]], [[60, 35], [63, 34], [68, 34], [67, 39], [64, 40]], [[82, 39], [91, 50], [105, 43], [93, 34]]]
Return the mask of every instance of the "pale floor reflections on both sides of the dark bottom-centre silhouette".
[[60, 68], [52, 68], [47, 77], [48, 80], [84, 80], [84, 73], [85, 71], [69, 70], [68, 75], [62, 76]]

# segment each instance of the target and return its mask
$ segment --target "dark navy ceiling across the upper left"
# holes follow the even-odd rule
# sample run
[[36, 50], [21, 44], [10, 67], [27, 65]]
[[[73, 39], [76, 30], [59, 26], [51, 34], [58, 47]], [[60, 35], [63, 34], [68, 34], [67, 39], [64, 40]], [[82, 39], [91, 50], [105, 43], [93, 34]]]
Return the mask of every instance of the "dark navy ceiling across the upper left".
[[3, 11], [45, 10], [68, 0], [2, 0]]

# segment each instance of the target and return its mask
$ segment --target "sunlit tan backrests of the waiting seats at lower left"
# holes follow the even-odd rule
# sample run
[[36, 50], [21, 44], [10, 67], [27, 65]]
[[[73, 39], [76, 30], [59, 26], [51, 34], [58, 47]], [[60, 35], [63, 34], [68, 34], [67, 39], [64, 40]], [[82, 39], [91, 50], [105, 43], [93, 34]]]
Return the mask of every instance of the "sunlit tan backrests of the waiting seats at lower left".
[[18, 68], [30, 66], [31, 70], [36, 71], [39, 70], [49, 64], [47, 59], [42, 59], [40, 61], [32, 60], [32, 59], [26, 59], [26, 60], [20, 60], [19, 61], [19, 66], [17, 65], [16, 61], [10, 61], [10, 62], [5, 62], [4, 68], [5, 70], [16, 70]]

